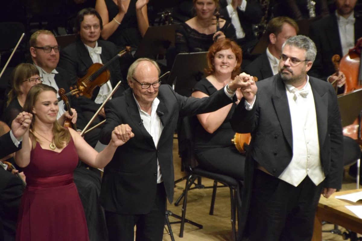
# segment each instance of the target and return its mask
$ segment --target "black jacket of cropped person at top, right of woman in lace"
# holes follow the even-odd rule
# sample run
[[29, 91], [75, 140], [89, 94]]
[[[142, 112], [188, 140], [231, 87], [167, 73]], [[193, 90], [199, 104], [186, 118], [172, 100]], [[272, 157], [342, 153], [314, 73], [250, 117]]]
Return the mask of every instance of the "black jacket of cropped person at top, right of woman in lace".
[[[227, 12], [226, 6], [228, 5], [226, 0], [220, 0], [220, 15], [222, 18], [231, 21]], [[247, 1], [247, 7], [245, 12], [237, 8], [237, 16], [239, 17], [240, 25], [245, 32], [245, 38], [247, 40], [254, 40], [256, 36], [253, 33], [253, 24], [260, 23], [263, 16], [260, 4], [256, 0]]]

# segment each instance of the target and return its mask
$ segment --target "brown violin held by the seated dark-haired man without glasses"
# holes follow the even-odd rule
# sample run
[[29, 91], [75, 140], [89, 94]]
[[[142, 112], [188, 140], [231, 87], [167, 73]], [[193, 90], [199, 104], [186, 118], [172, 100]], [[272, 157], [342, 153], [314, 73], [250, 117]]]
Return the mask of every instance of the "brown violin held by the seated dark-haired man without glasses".
[[87, 70], [87, 74], [82, 78], [78, 79], [77, 86], [80, 92], [80, 95], [83, 95], [87, 98], [92, 97], [93, 90], [97, 86], [102, 86], [109, 80], [110, 73], [108, 70], [108, 66], [113, 63], [113, 61], [117, 60], [118, 57], [122, 57], [125, 53], [130, 52], [131, 47], [127, 46], [125, 50], [119, 52], [116, 56], [114, 56], [111, 60], [109, 60], [106, 64], [94, 63], [90, 65]]

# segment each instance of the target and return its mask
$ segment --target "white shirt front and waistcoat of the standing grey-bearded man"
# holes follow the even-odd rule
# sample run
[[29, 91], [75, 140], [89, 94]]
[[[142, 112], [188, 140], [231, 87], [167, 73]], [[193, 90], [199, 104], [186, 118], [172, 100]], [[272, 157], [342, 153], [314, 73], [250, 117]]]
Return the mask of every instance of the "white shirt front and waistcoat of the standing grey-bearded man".
[[306, 85], [299, 91], [308, 91], [306, 97], [292, 92], [295, 87], [286, 85], [289, 111], [292, 122], [293, 157], [279, 179], [298, 186], [308, 175], [315, 185], [325, 176], [320, 162], [320, 147], [317, 116], [312, 88], [307, 76]]

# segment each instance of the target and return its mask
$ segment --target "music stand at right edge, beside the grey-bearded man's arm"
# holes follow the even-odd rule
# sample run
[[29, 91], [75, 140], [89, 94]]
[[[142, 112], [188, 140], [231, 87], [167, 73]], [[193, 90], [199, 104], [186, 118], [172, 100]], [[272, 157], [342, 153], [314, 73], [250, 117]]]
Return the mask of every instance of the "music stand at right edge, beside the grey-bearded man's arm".
[[342, 126], [353, 124], [362, 110], [362, 89], [338, 95], [337, 101], [342, 117]]

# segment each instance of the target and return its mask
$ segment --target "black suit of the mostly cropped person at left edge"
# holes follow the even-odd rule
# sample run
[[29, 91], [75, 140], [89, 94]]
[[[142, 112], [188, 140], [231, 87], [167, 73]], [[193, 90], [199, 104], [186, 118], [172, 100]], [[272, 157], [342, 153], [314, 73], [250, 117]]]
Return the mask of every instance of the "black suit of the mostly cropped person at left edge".
[[[0, 137], [0, 158], [19, 150], [10, 137], [10, 132]], [[0, 167], [0, 240], [14, 241], [16, 220], [23, 192], [22, 182], [12, 173]]]

